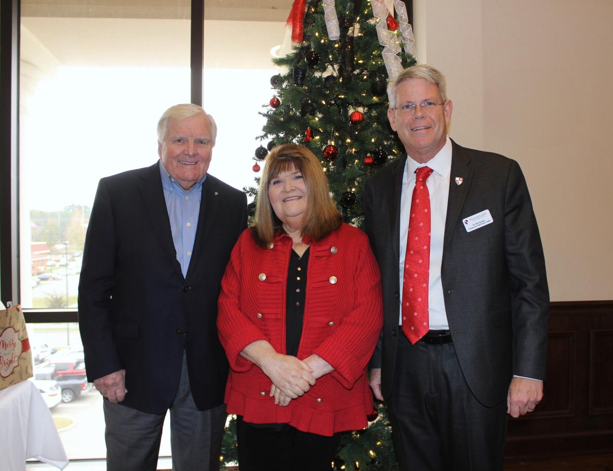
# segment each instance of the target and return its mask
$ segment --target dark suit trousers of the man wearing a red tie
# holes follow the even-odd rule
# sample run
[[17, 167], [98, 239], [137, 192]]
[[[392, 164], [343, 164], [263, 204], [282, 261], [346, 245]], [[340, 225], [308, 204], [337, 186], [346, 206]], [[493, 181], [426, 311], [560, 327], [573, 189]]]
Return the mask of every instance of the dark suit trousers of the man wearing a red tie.
[[502, 470], [506, 402], [474, 398], [453, 344], [411, 345], [400, 334], [387, 405], [400, 471]]

